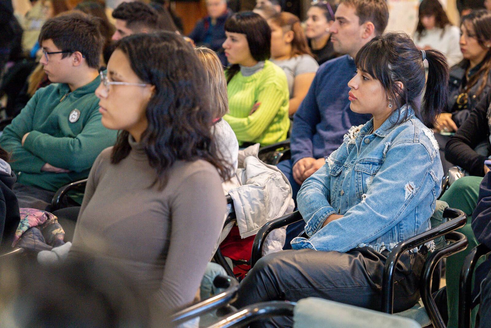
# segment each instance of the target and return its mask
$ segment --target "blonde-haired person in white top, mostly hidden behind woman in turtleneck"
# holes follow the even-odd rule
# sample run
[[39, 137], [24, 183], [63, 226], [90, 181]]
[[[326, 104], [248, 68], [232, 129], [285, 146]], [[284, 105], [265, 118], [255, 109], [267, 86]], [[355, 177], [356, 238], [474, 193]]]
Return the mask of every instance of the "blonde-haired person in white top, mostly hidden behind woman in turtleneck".
[[222, 119], [223, 115], [228, 113], [227, 80], [223, 73], [223, 66], [218, 55], [213, 50], [206, 47], [197, 47], [194, 48], [194, 51], [205, 68], [206, 78], [210, 85], [208, 98], [210, 99], [210, 108], [214, 117], [212, 133], [223, 159], [233, 168], [231, 172], [231, 176], [233, 176], [237, 170], [239, 142], [237, 137], [235, 137], [234, 130], [232, 130], [227, 121]]

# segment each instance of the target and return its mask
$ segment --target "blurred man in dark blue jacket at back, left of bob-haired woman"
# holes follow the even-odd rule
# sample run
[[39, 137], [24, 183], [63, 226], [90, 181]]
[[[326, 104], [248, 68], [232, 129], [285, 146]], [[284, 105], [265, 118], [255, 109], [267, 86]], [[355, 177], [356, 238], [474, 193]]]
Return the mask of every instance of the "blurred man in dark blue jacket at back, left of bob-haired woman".
[[227, 57], [223, 52], [222, 44], [225, 42], [225, 21], [232, 11], [227, 8], [226, 0], [206, 0], [208, 16], [196, 23], [188, 35], [196, 46], [205, 46], [217, 53], [223, 66], [228, 66]]

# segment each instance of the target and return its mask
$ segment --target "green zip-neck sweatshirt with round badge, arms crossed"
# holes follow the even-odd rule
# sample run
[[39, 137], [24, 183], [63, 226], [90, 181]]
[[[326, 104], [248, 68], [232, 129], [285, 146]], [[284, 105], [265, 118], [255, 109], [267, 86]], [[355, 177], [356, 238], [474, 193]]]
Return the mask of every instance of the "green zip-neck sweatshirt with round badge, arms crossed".
[[[101, 123], [99, 99], [94, 94], [99, 84], [97, 77], [73, 92], [65, 83], [41, 88], [3, 130], [0, 146], [12, 153], [10, 166], [18, 183], [56, 191], [88, 176], [97, 156], [114, 144], [117, 135]], [[41, 171], [45, 163], [70, 172]]]

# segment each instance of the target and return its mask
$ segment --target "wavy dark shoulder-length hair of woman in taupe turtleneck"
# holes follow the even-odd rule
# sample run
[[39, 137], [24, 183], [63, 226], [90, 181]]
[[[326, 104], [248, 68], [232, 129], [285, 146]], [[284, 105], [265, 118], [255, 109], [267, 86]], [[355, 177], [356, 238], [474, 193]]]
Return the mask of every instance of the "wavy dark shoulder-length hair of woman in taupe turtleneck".
[[[116, 44], [144, 83], [155, 86], [146, 109], [148, 127], [140, 143], [150, 166], [157, 173], [154, 183], [163, 189], [167, 171], [176, 161], [205, 160], [214, 165], [222, 181], [230, 179], [229, 164], [222, 160], [213, 142], [210, 126], [208, 82], [203, 65], [191, 45], [173, 32], [133, 34]], [[122, 131], [112, 149], [111, 163], [128, 156], [129, 133]]]

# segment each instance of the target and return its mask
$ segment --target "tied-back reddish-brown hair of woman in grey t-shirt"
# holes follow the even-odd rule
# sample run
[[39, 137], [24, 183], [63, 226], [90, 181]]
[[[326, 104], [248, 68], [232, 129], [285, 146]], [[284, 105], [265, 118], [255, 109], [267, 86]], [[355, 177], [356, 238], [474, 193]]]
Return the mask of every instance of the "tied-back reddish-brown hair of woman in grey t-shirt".
[[300, 25], [300, 19], [297, 16], [283, 11], [273, 15], [270, 20], [275, 25], [281, 27], [283, 29], [283, 33], [293, 31], [294, 36], [292, 40], [292, 52], [290, 53], [290, 58], [297, 55], [313, 56], [310, 48], [308, 47], [307, 38], [305, 37], [303, 28]]

